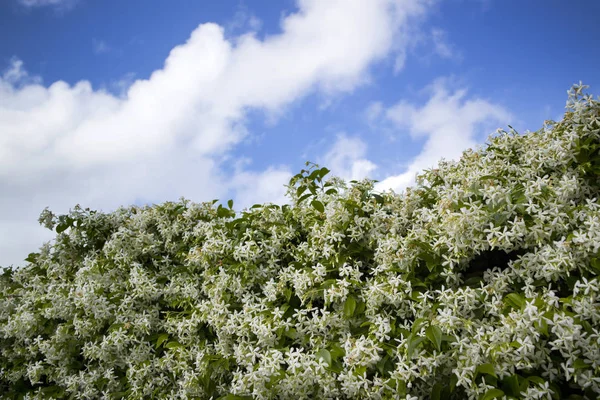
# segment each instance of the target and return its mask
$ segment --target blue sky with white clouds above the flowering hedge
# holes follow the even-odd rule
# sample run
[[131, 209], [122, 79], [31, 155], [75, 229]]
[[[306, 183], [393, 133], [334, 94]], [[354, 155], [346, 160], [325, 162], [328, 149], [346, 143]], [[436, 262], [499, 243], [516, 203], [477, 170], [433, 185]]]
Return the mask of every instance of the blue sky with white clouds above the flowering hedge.
[[0, 265], [49, 207], [286, 201], [310, 160], [400, 193], [600, 94], [597, 0], [0, 0]]

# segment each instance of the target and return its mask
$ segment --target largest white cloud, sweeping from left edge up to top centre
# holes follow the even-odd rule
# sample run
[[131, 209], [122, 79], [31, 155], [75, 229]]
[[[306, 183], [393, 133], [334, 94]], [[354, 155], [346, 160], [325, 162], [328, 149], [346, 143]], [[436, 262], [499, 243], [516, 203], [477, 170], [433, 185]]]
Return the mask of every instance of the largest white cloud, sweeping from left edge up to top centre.
[[[0, 236], [30, 238], [35, 250], [50, 236], [37, 225], [46, 206], [109, 211], [139, 198], [205, 201], [232, 188], [247, 201], [277, 197], [272, 188], [287, 183], [285, 168], [223, 172], [228, 152], [248, 135], [246, 111], [277, 114], [311, 92], [368, 82], [368, 67], [390, 54], [402, 24], [427, 4], [300, 0], [282, 32], [264, 40], [252, 32], [227, 40], [220, 26], [202, 24], [123, 96], [87, 81], [18, 83], [18, 65], [21, 72], [0, 80]], [[0, 265], [22, 264], [26, 253], [3, 241], [0, 256]]]

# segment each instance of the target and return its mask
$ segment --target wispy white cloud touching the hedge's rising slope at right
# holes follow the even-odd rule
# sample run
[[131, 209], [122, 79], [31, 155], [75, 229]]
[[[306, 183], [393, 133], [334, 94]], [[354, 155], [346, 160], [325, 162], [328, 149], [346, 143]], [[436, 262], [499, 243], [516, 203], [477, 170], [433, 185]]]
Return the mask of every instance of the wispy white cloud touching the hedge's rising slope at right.
[[441, 79], [429, 86], [430, 99], [422, 107], [401, 101], [386, 111], [386, 118], [397, 129], [408, 130], [411, 138], [425, 139], [421, 153], [408, 168], [388, 176], [376, 185], [377, 190], [400, 192], [415, 183], [415, 176], [433, 168], [440, 159], [458, 160], [462, 152], [479, 144], [477, 137], [496, 123], [506, 126], [511, 114], [498, 104], [477, 97], [467, 98], [466, 89], [448, 89]]

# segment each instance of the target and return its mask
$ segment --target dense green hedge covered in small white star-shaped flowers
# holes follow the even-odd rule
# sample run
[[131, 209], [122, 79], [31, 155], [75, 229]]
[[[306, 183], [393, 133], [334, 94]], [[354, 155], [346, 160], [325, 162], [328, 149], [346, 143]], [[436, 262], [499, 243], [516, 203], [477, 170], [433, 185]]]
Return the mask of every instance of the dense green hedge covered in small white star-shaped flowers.
[[3, 398], [600, 397], [600, 103], [398, 195], [44, 210], [0, 277]]

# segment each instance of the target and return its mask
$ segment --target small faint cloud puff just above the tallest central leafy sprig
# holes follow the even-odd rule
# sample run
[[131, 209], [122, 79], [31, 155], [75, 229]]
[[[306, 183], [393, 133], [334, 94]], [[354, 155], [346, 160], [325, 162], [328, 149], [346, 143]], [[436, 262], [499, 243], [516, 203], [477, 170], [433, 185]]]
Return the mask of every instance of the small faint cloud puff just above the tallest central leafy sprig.
[[366, 154], [367, 144], [360, 138], [338, 134], [331, 149], [319, 161], [333, 175], [346, 180], [372, 178], [371, 173], [377, 166], [365, 158]]

